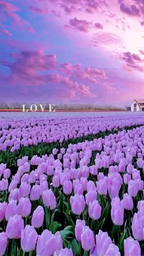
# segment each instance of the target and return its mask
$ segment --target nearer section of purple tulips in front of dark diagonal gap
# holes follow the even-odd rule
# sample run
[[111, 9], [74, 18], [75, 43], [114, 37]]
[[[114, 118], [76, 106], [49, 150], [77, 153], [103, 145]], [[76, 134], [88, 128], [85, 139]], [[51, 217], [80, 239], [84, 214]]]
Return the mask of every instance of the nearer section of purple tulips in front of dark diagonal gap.
[[143, 142], [142, 126], [49, 156], [24, 156], [15, 175], [1, 164], [0, 255], [19, 239], [18, 250], [37, 255], [141, 255]]

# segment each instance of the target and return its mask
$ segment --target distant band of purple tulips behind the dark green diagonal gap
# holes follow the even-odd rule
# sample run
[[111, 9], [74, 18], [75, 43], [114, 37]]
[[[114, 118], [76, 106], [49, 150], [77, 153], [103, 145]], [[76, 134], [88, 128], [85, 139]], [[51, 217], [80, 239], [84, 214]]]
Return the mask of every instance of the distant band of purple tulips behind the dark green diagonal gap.
[[51, 144], [53, 142], [68, 141], [90, 134], [117, 130], [125, 126], [141, 125], [144, 122], [142, 115], [132, 117], [121, 115], [115, 117], [71, 117], [71, 118], [36, 118], [21, 117], [17, 119], [1, 119], [0, 150], [10, 152], [20, 150], [20, 147]]

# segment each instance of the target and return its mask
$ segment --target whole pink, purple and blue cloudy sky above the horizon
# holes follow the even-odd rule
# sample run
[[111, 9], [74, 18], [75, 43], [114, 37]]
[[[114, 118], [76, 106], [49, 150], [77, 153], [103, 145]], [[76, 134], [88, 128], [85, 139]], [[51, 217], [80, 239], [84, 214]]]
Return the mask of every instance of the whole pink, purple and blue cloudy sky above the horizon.
[[0, 101], [144, 98], [143, 0], [0, 0]]

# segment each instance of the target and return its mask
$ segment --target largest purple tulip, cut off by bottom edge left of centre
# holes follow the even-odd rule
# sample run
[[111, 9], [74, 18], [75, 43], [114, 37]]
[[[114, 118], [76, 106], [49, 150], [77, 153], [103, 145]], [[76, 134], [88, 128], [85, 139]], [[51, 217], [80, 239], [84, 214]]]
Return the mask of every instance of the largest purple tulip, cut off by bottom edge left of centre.
[[51, 256], [56, 250], [62, 249], [62, 238], [59, 232], [54, 235], [49, 230], [44, 230], [37, 240], [37, 255]]

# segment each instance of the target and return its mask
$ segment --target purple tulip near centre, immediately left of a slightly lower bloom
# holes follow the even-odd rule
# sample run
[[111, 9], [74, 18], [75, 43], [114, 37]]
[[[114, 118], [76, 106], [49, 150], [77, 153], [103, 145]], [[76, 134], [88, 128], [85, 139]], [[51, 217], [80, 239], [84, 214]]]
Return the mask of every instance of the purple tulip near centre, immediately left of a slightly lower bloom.
[[85, 208], [85, 200], [83, 195], [76, 194], [70, 197], [71, 210], [74, 214], [81, 214]]

